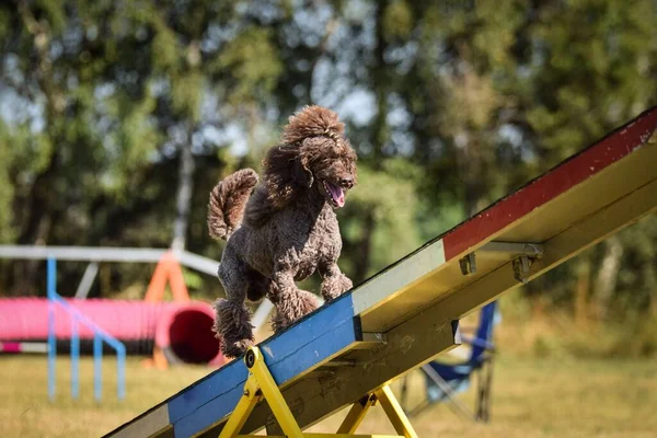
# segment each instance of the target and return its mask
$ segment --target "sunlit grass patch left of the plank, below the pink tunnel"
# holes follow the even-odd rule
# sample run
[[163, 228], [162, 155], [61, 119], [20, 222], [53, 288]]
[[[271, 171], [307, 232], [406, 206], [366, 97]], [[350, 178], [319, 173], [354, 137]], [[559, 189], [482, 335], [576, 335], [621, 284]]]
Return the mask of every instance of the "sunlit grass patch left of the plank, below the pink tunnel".
[[70, 361], [57, 360], [57, 394], [48, 400], [45, 357], [0, 357], [1, 437], [95, 437], [129, 420], [207, 374], [205, 367], [166, 371], [143, 368], [140, 360], [126, 364], [127, 397], [117, 400], [116, 360], [103, 361], [103, 399], [93, 396], [93, 361], [82, 358], [80, 399], [70, 396]]

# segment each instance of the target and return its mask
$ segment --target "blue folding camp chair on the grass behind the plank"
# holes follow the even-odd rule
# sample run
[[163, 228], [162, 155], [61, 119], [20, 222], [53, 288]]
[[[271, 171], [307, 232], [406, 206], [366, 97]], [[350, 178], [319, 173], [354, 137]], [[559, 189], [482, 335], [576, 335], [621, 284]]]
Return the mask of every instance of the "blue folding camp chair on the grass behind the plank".
[[[496, 323], [497, 303], [495, 301], [484, 306], [480, 314], [480, 324], [475, 336], [461, 336], [463, 344], [471, 345], [470, 357], [458, 364], [441, 364], [431, 361], [422, 367], [426, 384], [426, 400], [412, 410], [406, 411], [410, 417], [415, 416], [434, 403], [449, 401], [451, 406], [473, 420], [487, 422], [491, 413], [491, 385], [493, 382], [493, 326]], [[463, 402], [456, 397], [459, 392], [470, 387], [474, 373], [479, 373], [475, 412], [472, 412]], [[407, 381], [402, 383], [402, 405], [406, 406]]]

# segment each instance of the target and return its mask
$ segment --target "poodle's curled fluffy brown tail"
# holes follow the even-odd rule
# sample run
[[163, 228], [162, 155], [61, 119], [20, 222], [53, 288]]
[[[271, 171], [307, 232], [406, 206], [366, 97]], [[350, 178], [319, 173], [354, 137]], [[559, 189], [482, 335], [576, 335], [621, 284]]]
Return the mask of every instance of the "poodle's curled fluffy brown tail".
[[208, 230], [214, 239], [228, 240], [240, 227], [244, 207], [257, 181], [253, 169], [242, 169], [212, 188], [208, 203]]

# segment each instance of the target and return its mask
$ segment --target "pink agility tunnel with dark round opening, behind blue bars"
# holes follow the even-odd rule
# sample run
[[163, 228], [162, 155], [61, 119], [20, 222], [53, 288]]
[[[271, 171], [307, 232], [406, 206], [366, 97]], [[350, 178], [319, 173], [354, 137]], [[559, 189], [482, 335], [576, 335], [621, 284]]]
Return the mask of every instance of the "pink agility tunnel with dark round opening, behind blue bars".
[[[110, 335], [127, 344], [128, 350], [164, 351], [169, 361], [221, 365], [219, 342], [212, 333], [215, 313], [204, 302], [145, 302], [128, 300], [66, 300]], [[58, 341], [70, 341], [71, 318], [55, 306]], [[82, 346], [93, 332], [80, 324]], [[0, 299], [0, 341], [43, 342], [48, 337], [48, 300]], [[145, 351], [145, 349], [149, 349]]]

